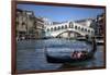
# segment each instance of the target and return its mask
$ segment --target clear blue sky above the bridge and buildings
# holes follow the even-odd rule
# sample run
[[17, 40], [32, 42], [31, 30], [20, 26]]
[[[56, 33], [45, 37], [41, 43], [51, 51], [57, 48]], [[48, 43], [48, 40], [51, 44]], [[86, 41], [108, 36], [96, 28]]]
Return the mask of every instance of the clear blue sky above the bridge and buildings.
[[53, 22], [77, 21], [88, 17], [96, 17], [103, 13], [103, 9], [87, 9], [74, 7], [52, 7], [35, 4], [18, 4], [18, 9], [33, 11], [35, 16], [47, 17]]

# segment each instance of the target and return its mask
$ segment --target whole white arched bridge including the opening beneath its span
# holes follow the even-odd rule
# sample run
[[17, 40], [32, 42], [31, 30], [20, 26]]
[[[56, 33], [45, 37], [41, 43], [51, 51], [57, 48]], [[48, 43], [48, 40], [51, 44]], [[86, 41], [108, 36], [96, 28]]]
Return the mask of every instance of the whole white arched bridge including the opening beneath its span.
[[95, 30], [89, 25], [81, 25], [75, 22], [66, 22], [55, 25], [45, 26], [46, 37], [76, 37], [76, 36], [94, 36]]

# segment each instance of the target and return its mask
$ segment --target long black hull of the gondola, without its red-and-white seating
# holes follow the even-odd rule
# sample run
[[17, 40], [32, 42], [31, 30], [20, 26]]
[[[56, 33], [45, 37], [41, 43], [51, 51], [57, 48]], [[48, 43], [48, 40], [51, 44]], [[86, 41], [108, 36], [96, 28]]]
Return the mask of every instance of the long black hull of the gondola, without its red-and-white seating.
[[73, 58], [73, 57], [53, 57], [53, 55], [50, 55], [47, 53], [47, 51], [45, 52], [46, 53], [46, 60], [48, 63], [72, 63], [72, 62], [80, 62], [80, 61], [85, 61], [85, 60], [90, 60], [94, 58], [95, 55], [95, 52], [97, 50], [97, 45], [96, 45], [96, 40], [95, 38], [92, 38], [92, 41], [90, 41], [91, 43], [91, 51], [87, 52], [87, 54], [85, 57], [81, 57], [81, 58]]

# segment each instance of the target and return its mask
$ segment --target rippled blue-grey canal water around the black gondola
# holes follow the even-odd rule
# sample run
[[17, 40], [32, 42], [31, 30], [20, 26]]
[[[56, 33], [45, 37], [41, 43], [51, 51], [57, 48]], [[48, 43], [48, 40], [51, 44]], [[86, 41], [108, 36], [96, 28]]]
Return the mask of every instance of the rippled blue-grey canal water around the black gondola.
[[95, 58], [89, 61], [82, 61], [69, 64], [48, 63], [45, 57], [45, 48], [48, 52], [63, 55], [74, 50], [90, 50], [91, 45], [86, 41], [68, 39], [41, 39], [41, 40], [22, 40], [16, 42], [16, 70], [61, 70], [61, 68], [85, 68], [103, 66], [103, 46], [97, 46]]

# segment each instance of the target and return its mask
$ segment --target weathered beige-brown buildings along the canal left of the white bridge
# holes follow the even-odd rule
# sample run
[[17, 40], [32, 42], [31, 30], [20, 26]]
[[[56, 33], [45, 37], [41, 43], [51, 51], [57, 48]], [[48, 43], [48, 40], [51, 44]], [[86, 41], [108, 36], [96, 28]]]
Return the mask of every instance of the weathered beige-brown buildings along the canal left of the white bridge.
[[42, 37], [43, 20], [32, 11], [16, 9], [16, 39], [37, 39]]

